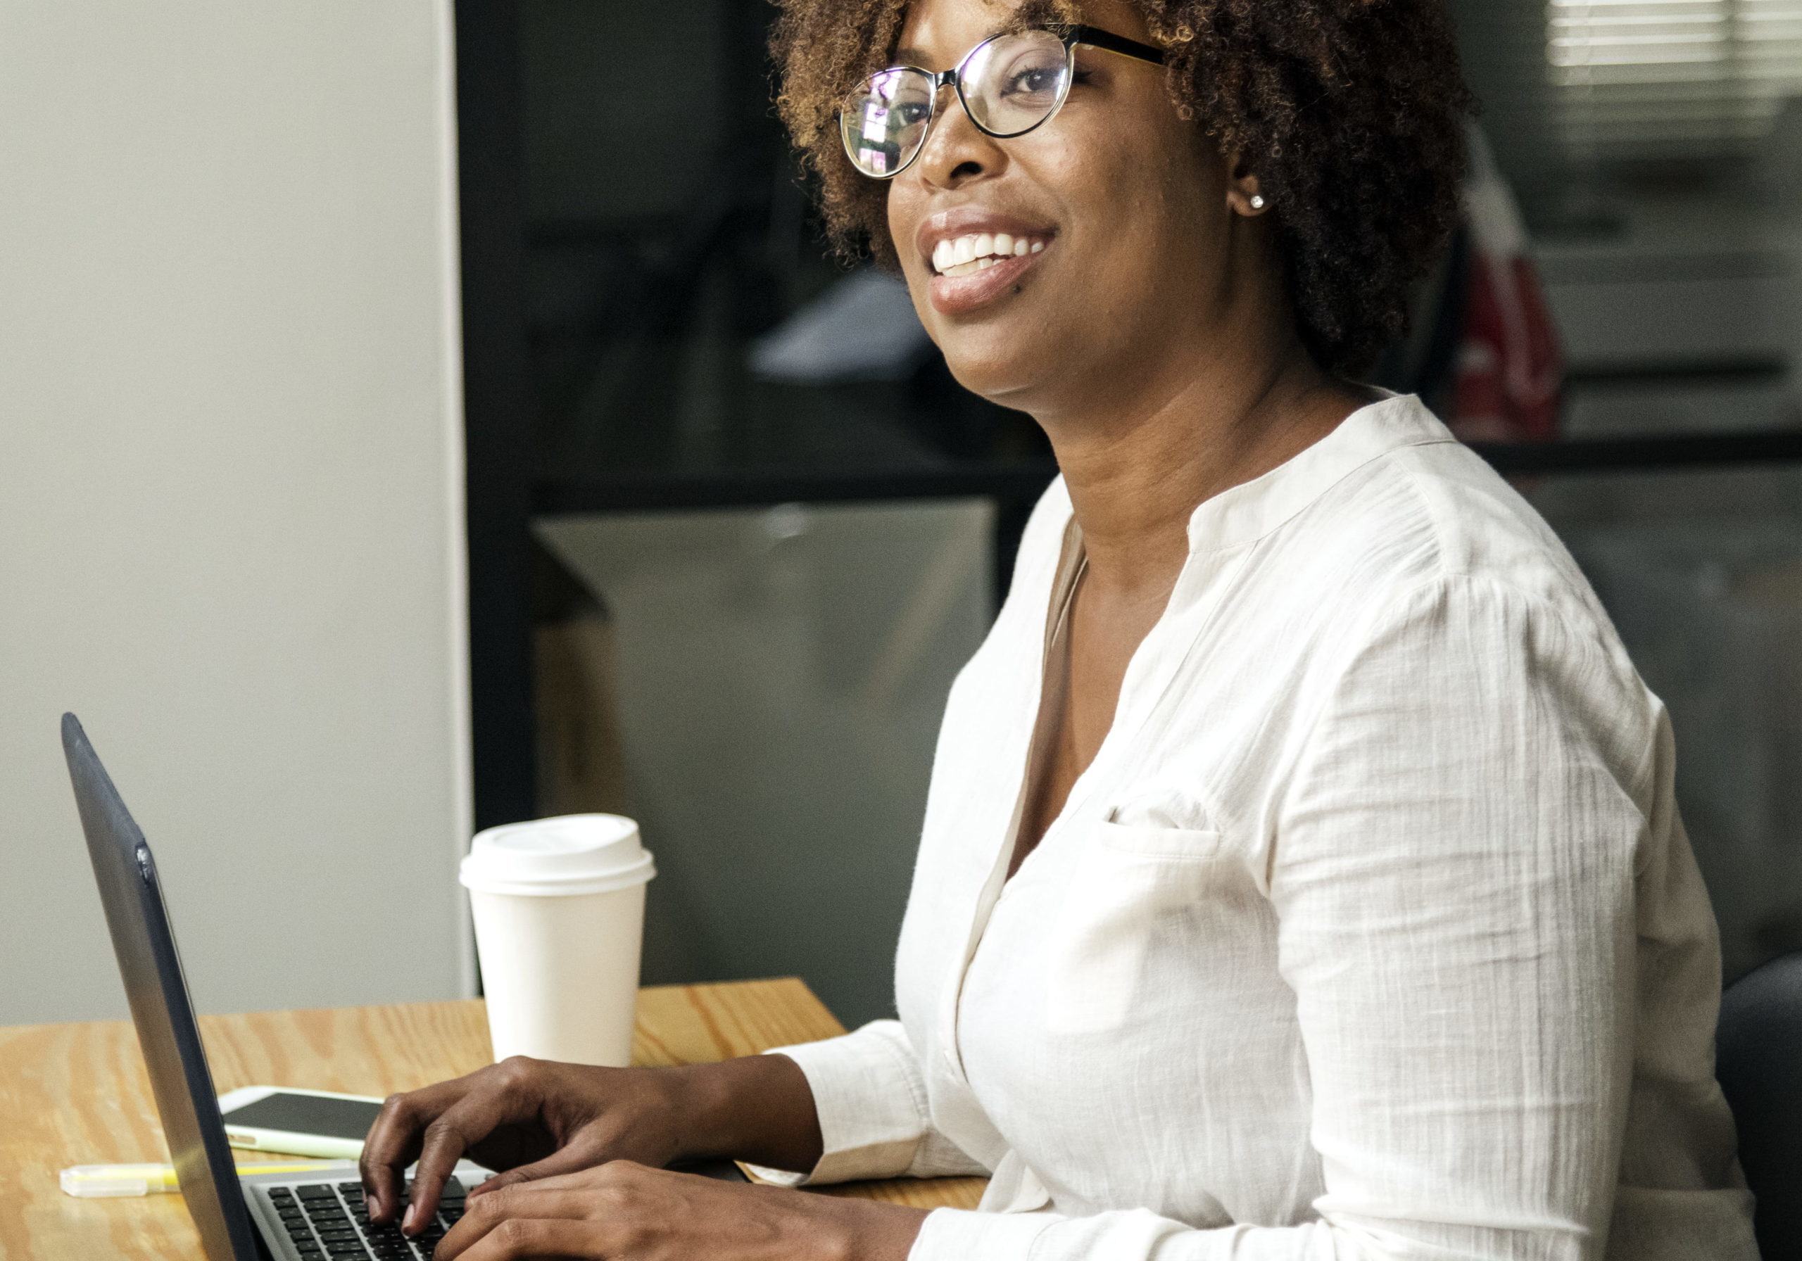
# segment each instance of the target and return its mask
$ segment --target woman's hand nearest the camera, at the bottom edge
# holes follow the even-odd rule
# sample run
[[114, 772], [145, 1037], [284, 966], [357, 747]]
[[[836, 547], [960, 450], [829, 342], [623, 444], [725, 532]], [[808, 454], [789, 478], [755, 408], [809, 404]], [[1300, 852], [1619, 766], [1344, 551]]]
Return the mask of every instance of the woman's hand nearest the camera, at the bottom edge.
[[719, 1182], [631, 1160], [472, 1191], [440, 1261], [905, 1261], [923, 1209]]

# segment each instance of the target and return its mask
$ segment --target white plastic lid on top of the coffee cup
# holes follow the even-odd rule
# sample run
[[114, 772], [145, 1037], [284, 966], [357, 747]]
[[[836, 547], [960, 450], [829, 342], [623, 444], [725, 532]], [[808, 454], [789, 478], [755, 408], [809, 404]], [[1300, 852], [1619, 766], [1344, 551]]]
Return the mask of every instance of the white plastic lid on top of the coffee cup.
[[575, 897], [656, 875], [638, 823], [623, 814], [562, 814], [476, 834], [460, 879], [479, 894]]

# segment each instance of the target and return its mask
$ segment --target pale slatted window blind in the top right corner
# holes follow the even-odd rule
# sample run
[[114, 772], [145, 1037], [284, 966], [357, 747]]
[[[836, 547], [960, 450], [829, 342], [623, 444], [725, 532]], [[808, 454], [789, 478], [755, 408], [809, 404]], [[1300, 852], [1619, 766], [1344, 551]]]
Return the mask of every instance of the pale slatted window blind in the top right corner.
[[1548, 0], [1546, 68], [1571, 160], [1734, 157], [1802, 92], [1802, 0]]

